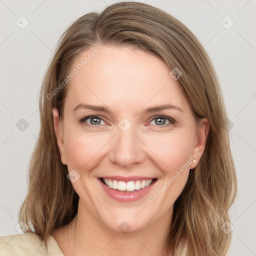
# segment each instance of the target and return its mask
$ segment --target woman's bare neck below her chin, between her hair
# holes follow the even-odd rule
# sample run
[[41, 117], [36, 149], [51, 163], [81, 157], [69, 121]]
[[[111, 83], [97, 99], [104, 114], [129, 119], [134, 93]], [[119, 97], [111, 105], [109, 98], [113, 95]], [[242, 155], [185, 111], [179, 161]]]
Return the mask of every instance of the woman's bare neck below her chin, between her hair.
[[117, 232], [109, 229], [86, 207], [78, 206], [74, 219], [52, 232], [65, 256], [80, 255], [160, 255], [166, 254], [166, 237], [170, 229], [170, 218], [166, 221], [151, 221], [146, 227], [133, 232]]

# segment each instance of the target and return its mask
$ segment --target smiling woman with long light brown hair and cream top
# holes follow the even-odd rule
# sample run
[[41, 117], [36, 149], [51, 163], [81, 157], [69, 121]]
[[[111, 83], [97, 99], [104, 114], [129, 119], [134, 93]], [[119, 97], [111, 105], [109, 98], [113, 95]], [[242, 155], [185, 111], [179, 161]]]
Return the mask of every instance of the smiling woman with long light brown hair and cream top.
[[227, 117], [181, 22], [138, 2], [81, 16], [40, 96], [25, 233], [1, 237], [0, 255], [225, 255], [236, 192]]

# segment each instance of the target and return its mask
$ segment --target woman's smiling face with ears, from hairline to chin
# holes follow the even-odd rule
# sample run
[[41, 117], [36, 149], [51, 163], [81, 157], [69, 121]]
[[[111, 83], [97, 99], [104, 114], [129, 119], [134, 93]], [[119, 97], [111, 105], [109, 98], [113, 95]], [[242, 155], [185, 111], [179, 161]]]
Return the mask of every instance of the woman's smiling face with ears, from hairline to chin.
[[202, 154], [207, 120], [196, 132], [178, 81], [156, 56], [131, 47], [96, 48], [73, 63], [60, 126], [53, 109], [79, 210], [116, 231], [166, 225]]

